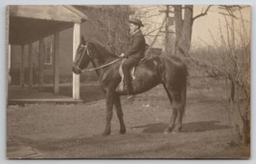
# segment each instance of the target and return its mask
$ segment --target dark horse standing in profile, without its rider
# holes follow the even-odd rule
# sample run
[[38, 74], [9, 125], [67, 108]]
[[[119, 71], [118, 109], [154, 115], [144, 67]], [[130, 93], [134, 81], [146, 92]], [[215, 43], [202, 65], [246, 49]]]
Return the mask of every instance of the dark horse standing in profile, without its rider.
[[[125, 95], [125, 93], [116, 92], [116, 87], [121, 81], [121, 75], [119, 74], [121, 60], [101, 68], [101, 66], [117, 59], [118, 56], [109, 51], [100, 42], [85, 42], [83, 37], [81, 37], [81, 44], [73, 63], [73, 72], [76, 74], [80, 74], [89, 62], [92, 63], [94, 68], [100, 67], [96, 72], [106, 95], [104, 135], [110, 133], [113, 106], [115, 106], [120, 122], [120, 133], [126, 133], [120, 101], [120, 95]], [[179, 132], [182, 126], [182, 116], [186, 104], [186, 65], [175, 56], [160, 55], [159, 57], [153, 57], [139, 64], [136, 68], [135, 76], [136, 79], [132, 81], [134, 94], [147, 92], [158, 84], [163, 85], [173, 108], [173, 114], [165, 133], [170, 133], [173, 130]]]

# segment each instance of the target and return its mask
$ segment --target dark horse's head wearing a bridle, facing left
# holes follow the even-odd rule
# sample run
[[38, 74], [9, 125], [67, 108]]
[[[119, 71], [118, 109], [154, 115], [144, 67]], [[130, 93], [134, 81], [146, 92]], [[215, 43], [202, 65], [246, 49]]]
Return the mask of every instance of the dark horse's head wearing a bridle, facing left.
[[91, 60], [91, 56], [88, 52], [87, 43], [83, 36], [81, 36], [81, 43], [77, 49], [76, 57], [73, 61], [72, 71], [76, 74], [80, 74], [81, 71], [86, 68]]

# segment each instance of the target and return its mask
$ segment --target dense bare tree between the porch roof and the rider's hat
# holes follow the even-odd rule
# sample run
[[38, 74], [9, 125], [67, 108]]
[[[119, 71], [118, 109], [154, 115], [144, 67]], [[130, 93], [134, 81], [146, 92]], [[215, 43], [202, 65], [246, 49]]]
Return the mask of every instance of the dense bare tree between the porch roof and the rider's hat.
[[89, 17], [98, 40], [119, 54], [128, 47], [128, 18], [134, 10], [128, 5], [76, 6]]

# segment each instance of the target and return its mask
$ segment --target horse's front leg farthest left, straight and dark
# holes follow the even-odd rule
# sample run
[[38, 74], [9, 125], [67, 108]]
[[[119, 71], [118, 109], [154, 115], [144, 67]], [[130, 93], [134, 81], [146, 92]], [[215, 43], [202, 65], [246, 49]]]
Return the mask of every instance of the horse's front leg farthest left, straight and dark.
[[113, 97], [113, 92], [106, 92], [106, 112], [105, 112], [105, 131], [103, 135], [108, 135], [110, 134], [111, 131], [111, 119], [113, 116], [113, 102], [114, 102], [114, 97]]

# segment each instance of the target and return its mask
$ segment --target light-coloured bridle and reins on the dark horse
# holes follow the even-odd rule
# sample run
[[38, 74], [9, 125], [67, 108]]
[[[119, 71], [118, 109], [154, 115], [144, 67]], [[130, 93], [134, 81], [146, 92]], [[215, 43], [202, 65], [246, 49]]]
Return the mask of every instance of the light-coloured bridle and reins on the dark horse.
[[91, 71], [99, 70], [99, 69], [105, 68], [106, 66], [109, 66], [109, 65], [111, 65], [111, 64], [114, 64], [115, 62], [117, 62], [117, 61], [119, 61], [119, 60], [122, 60], [122, 58], [118, 58], [118, 59], [115, 59], [115, 60], [113, 60], [113, 61], [111, 61], [111, 62], [105, 64], [105, 65], [102, 65], [102, 66], [99, 66], [99, 67], [96, 67], [96, 68], [93, 68], [93, 69], [81, 70], [80, 64], [81, 64], [81, 60], [82, 60], [82, 58], [83, 58], [83, 56], [84, 56], [85, 51], [86, 51], [88, 57], [90, 58], [90, 60], [93, 62], [93, 58], [92, 58], [92, 55], [90, 54], [90, 51], [88, 50], [87, 44], [86, 44], [86, 45], [81, 45], [81, 47], [84, 48], [84, 49], [83, 49], [83, 51], [82, 51], [82, 53], [81, 53], [81, 57], [80, 57], [80, 59], [79, 59], [79, 62], [78, 62], [78, 64], [77, 64], [77, 66], [76, 66], [76, 68], [77, 68], [80, 72], [91, 72]]

